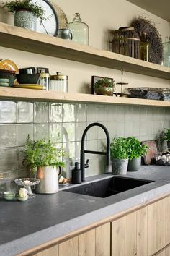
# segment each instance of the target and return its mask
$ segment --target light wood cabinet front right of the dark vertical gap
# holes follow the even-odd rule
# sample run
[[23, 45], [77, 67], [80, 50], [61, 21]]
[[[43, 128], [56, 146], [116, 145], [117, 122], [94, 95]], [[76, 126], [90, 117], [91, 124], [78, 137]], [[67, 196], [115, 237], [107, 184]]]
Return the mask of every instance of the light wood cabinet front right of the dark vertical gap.
[[112, 256], [151, 256], [169, 243], [170, 197], [112, 221]]

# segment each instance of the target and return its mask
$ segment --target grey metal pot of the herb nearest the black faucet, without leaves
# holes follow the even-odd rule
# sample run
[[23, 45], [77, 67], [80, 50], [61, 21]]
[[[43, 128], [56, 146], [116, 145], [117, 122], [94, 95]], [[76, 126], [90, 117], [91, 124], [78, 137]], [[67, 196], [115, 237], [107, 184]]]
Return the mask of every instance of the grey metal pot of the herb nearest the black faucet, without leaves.
[[128, 159], [112, 159], [112, 173], [126, 175], [128, 169]]

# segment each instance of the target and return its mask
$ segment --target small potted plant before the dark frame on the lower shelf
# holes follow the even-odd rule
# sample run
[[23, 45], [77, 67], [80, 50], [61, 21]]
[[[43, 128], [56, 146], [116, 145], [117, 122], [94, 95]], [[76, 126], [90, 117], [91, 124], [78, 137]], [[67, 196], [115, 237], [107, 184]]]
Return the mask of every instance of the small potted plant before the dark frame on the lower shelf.
[[94, 84], [94, 92], [96, 94], [112, 96], [114, 91], [114, 81], [110, 82], [107, 78], [99, 79]]

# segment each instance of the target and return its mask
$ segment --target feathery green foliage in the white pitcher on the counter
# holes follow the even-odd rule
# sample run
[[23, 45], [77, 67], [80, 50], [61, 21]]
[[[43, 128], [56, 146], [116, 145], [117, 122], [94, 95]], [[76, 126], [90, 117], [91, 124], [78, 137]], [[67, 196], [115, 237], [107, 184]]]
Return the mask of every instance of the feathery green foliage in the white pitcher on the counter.
[[65, 166], [61, 158], [66, 153], [63, 150], [58, 150], [50, 140], [34, 141], [28, 136], [22, 153], [24, 154], [24, 165], [29, 166], [32, 170], [37, 166]]

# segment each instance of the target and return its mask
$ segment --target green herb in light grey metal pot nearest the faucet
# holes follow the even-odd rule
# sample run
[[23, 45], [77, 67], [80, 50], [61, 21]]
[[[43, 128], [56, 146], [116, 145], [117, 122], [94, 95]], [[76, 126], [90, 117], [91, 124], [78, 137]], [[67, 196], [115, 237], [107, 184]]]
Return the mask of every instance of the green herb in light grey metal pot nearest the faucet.
[[110, 143], [110, 157], [113, 174], [127, 174], [129, 140], [117, 137]]

